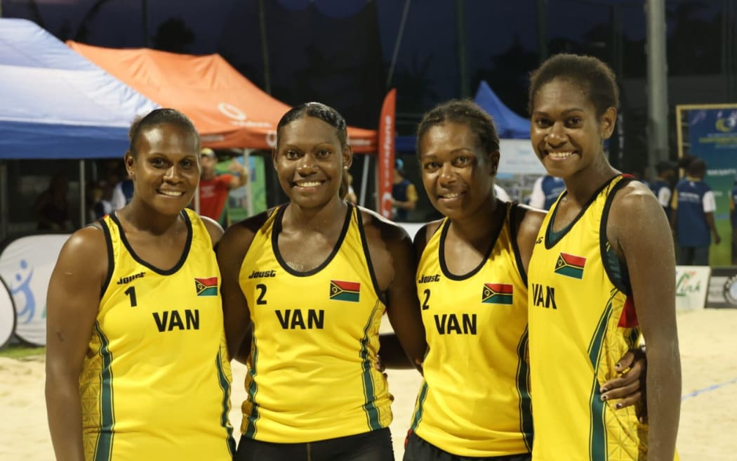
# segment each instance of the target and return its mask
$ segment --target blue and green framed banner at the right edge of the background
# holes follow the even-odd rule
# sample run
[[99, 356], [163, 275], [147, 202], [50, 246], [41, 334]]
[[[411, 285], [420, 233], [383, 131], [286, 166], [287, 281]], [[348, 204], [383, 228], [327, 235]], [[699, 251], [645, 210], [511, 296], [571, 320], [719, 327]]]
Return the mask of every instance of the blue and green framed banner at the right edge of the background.
[[709, 264], [728, 266], [732, 235], [729, 198], [737, 179], [737, 104], [685, 105], [678, 109], [687, 111], [688, 153], [706, 162], [705, 181], [716, 198], [714, 220], [722, 243], [712, 244]]

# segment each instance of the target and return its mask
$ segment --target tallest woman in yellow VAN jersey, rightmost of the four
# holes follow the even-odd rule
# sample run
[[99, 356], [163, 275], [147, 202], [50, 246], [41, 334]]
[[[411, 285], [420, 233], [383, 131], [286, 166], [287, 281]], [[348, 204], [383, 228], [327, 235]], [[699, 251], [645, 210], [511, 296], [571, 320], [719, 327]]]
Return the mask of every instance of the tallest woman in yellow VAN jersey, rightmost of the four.
[[[532, 146], [566, 187], [528, 271], [533, 460], [673, 460], [681, 389], [673, 242], [648, 187], [607, 162], [615, 76], [596, 58], [556, 55], [531, 74], [529, 98]], [[649, 427], [600, 392], [640, 330]]]

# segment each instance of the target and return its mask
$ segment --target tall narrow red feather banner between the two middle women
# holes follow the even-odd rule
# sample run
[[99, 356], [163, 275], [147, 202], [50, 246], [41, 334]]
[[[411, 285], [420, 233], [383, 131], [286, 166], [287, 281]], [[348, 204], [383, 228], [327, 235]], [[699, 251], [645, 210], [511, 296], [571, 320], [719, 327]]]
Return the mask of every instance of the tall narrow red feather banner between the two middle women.
[[397, 89], [391, 89], [384, 98], [379, 118], [379, 209], [384, 218], [391, 219], [391, 187], [394, 184], [394, 131], [397, 122]]

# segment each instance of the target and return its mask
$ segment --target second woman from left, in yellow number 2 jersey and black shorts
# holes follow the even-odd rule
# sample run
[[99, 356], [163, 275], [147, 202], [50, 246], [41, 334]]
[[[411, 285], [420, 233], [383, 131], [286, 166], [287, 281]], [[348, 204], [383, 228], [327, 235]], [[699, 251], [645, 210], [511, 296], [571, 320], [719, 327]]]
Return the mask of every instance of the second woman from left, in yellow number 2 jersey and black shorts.
[[415, 257], [401, 227], [340, 198], [351, 160], [335, 109], [291, 109], [273, 150], [289, 202], [231, 226], [218, 246], [228, 348], [249, 346], [236, 460], [394, 459], [379, 326], [386, 311], [422, 358]]

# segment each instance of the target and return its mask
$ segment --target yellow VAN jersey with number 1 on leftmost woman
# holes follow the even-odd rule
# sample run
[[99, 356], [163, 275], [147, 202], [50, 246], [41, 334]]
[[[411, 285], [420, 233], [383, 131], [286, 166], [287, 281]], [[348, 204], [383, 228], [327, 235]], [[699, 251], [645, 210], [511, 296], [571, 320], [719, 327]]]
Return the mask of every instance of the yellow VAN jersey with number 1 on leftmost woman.
[[198, 215], [163, 271], [102, 218], [110, 271], [80, 376], [85, 460], [231, 460], [231, 370], [212, 242]]

